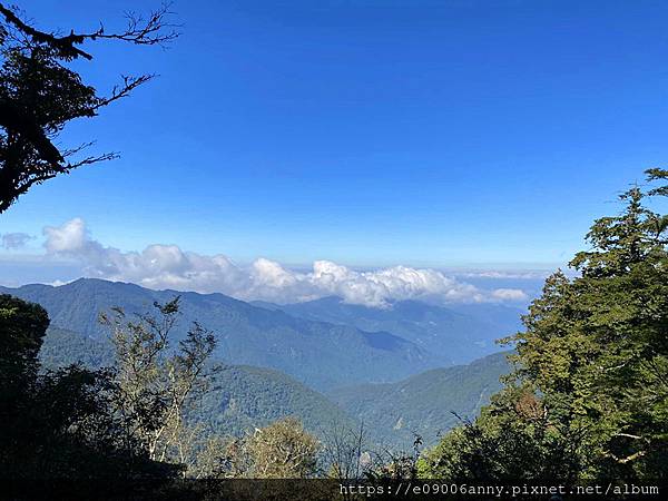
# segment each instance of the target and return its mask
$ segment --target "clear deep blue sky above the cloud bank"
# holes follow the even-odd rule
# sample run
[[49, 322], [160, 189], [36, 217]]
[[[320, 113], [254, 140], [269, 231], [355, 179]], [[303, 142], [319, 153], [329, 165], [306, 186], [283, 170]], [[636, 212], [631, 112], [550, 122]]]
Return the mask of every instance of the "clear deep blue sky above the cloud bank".
[[[18, 2], [38, 27], [154, 1]], [[668, 159], [665, 1], [177, 1], [169, 49], [98, 43], [73, 124], [121, 158], [35, 188], [0, 233], [75, 217], [105, 245], [245, 263], [550, 267]], [[6, 252], [7, 254], [7, 252]], [[14, 252], [16, 254], [16, 252]]]

